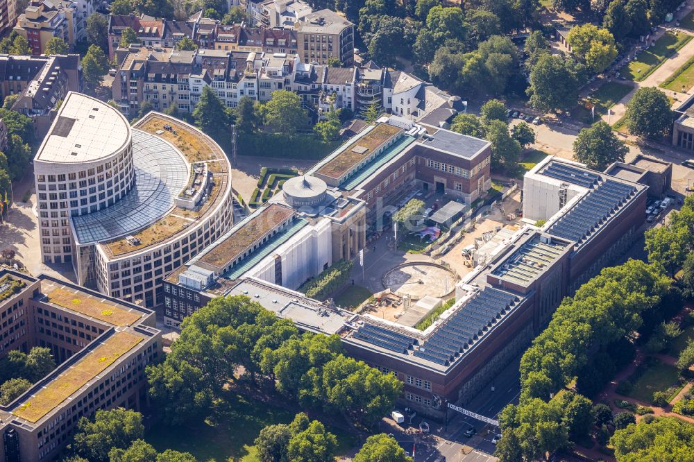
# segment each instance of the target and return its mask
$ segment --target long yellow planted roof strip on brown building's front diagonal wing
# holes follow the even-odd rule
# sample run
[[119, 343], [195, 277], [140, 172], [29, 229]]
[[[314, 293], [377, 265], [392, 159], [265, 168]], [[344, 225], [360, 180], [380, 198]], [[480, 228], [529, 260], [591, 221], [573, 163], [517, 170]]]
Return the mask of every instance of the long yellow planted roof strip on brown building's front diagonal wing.
[[137, 335], [115, 332], [92, 350], [85, 351], [84, 354], [81, 352], [83, 357], [79, 361], [58, 377], [46, 382], [13, 413], [29, 422], [37, 422], [140, 341], [142, 338]]

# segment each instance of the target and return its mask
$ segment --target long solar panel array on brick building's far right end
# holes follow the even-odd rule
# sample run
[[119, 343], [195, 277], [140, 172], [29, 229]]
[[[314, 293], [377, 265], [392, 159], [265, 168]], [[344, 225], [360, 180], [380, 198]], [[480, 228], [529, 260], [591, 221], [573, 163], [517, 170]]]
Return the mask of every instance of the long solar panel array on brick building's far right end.
[[589, 191], [564, 214], [548, 232], [557, 237], [580, 242], [595, 231], [603, 221], [623, 205], [636, 191], [636, 187], [614, 180], [606, 180]]

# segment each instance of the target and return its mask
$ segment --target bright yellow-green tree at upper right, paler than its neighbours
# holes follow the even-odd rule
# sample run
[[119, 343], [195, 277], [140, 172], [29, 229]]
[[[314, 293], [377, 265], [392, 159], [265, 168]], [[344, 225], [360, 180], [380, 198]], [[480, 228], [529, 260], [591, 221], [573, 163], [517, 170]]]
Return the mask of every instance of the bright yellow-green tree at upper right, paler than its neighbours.
[[572, 51], [595, 72], [602, 72], [617, 56], [614, 37], [606, 28], [586, 23], [573, 26], [566, 42]]

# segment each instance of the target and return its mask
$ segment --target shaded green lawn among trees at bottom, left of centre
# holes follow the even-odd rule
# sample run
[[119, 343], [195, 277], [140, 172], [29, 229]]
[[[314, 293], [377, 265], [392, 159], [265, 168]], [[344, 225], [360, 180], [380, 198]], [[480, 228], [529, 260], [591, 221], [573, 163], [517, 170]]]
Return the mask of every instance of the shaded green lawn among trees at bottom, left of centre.
[[[159, 451], [189, 452], [201, 462], [257, 462], [253, 440], [260, 430], [266, 425], [289, 423], [294, 419], [294, 413], [264, 402], [246, 400], [242, 395], [231, 395], [229, 399], [234, 402], [223, 411], [218, 423], [208, 420], [183, 427], [159, 423], [146, 431], [144, 439]], [[353, 435], [330, 426], [328, 430], [337, 436], [337, 454], [346, 454], [355, 445]]]

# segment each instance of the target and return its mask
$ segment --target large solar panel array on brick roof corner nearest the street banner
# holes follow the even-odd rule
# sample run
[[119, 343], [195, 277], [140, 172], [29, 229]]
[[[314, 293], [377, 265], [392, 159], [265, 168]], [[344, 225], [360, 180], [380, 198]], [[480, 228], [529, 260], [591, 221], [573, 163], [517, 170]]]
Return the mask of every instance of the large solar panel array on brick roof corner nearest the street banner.
[[511, 293], [485, 287], [415, 350], [414, 356], [448, 366], [518, 300]]

